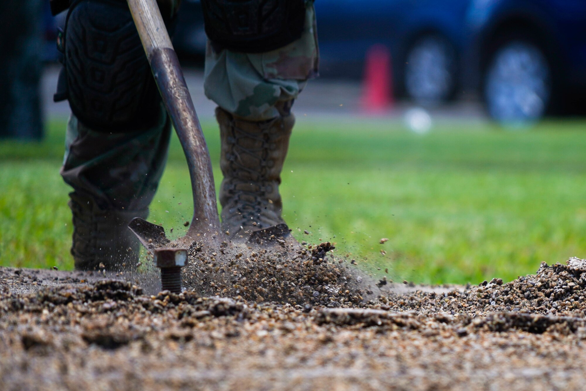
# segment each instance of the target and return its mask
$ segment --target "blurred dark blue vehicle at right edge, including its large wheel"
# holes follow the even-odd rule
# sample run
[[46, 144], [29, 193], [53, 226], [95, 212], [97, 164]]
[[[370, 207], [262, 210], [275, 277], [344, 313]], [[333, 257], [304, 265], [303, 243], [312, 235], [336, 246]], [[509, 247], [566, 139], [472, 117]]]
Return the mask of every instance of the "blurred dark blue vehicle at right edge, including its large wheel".
[[586, 1], [475, 0], [463, 31], [464, 88], [494, 119], [583, 114]]

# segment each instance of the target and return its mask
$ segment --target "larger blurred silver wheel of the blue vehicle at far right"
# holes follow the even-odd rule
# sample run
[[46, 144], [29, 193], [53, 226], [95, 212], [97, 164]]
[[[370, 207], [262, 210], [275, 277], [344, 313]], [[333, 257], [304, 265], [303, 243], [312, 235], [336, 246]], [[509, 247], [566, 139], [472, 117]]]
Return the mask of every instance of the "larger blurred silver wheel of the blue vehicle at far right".
[[536, 122], [554, 113], [559, 83], [546, 49], [529, 36], [503, 35], [486, 61], [482, 95], [492, 119], [503, 124]]

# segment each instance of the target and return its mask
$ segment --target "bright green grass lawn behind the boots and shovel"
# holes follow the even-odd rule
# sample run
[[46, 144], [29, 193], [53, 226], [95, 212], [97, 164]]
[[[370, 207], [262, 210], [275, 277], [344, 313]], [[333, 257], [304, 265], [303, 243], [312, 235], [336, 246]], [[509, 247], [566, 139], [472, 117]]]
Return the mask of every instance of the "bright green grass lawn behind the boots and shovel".
[[[50, 122], [43, 143], [0, 142], [0, 265], [73, 265], [64, 125]], [[217, 126], [204, 125], [217, 167]], [[392, 279], [513, 279], [586, 256], [586, 121], [526, 132], [440, 124], [421, 136], [398, 122], [301, 117], [282, 194], [298, 238], [337, 242], [340, 255]], [[180, 234], [190, 200], [175, 137], [149, 220]]]

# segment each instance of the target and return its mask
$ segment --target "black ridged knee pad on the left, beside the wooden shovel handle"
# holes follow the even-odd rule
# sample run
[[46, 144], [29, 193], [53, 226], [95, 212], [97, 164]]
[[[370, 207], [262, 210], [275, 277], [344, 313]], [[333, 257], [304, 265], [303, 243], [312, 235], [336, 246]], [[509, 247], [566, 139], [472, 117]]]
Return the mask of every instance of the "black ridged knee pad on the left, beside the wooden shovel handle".
[[125, 1], [74, 1], [61, 42], [55, 100], [68, 99], [82, 123], [120, 133], [156, 122], [159, 93]]

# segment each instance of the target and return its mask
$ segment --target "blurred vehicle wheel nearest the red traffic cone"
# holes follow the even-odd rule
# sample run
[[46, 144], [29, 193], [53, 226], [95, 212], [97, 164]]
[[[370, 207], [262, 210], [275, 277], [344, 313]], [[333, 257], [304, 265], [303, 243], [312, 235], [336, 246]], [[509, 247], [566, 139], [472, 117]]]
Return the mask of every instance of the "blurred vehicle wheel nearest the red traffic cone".
[[408, 99], [437, 105], [456, 93], [456, 50], [448, 39], [428, 34], [416, 39], [405, 56], [403, 85]]

